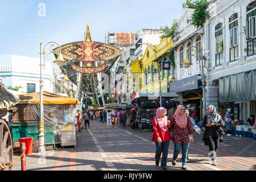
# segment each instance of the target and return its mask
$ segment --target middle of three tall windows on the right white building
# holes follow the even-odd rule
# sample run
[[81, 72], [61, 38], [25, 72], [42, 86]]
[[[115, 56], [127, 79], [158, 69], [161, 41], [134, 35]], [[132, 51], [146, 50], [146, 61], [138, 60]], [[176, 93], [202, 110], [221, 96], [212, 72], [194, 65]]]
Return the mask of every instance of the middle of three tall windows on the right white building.
[[229, 61], [238, 59], [238, 14], [234, 13], [229, 18]]

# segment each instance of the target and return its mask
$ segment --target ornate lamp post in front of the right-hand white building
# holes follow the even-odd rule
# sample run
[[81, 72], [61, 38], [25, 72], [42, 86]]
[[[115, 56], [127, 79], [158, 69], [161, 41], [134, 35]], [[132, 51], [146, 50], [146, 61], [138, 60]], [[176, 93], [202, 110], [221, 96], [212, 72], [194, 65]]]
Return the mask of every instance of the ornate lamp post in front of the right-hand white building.
[[[198, 55], [193, 55], [191, 53], [188, 52], [189, 55], [196, 57], [196, 63], [199, 63], [199, 67], [200, 67], [200, 72], [202, 71], [202, 86], [203, 86], [203, 115], [205, 115], [205, 109], [206, 109], [206, 97], [205, 97], [205, 76], [204, 76], [204, 67], [205, 67], [205, 56], [203, 55], [203, 47], [201, 46], [200, 49], [198, 49], [195, 46], [191, 46], [193, 48], [196, 49], [198, 53]], [[187, 49], [188, 50], [188, 49]], [[192, 51], [195, 51], [192, 49]], [[190, 65], [192, 63], [189, 62], [188, 57], [185, 57], [183, 63], [181, 63], [181, 65], [183, 65], [184, 68], [189, 68]]]

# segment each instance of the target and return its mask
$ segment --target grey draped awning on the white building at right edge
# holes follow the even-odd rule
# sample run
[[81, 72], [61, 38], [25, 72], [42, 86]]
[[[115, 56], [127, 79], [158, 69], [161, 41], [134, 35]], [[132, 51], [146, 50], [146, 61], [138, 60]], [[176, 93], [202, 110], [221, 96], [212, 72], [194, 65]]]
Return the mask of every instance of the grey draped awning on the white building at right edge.
[[256, 100], [256, 70], [218, 79], [219, 102]]

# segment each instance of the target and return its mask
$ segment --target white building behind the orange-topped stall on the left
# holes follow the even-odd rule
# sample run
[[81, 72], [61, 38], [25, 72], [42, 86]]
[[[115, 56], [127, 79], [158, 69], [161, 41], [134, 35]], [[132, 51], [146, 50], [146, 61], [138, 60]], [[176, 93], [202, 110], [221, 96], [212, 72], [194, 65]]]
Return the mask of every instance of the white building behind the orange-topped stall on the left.
[[[40, 91], [40, 59], [18, 55], [0, 55], [0, 75], [2, 83], [8, 88], [22, 86], [19, 92], [32, 93]], [[43, 90], [53, 93], [52, 64], [46, 61], [43, 67]]]

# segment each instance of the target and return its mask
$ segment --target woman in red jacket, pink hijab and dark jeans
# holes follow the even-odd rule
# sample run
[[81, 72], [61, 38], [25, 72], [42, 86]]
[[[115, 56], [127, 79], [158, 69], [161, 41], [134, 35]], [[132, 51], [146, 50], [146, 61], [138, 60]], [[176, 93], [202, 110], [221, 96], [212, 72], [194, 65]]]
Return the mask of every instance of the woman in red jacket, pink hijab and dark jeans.
[[156, 117], [152, 121], [154, 135], [152, 141], [155, 142], [156, 151], [155, 151], [155, 165], [159, 166], [160, 156], [162, 155], [161, 169], [167, 171], [167, 155], [168, 148], [171, 138], [169, 129], [171, 128], [170, 121], [167, 116], [167, 109], [164, 107], [159, 107], [156, 109]]

